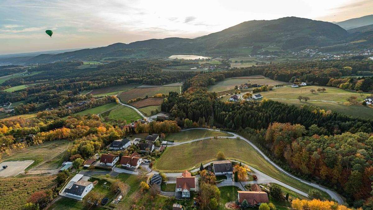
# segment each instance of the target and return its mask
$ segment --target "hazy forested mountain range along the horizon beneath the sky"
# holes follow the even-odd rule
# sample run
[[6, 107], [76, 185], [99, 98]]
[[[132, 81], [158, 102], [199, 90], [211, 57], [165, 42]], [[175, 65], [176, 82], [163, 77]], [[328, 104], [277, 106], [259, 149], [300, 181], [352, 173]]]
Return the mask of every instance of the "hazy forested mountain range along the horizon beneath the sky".
[[[362, 17], [364, 18], [364, 17]], [[365, 23], [367, 19], [364, 18]], [[354, 20], [354, 19], [351, 19]], [[337, 24], [347, 25], [349, 21]], [[355, 20], [356, 22], [356, 20]], [[90, 60], [103, 58], [148, 58], [173, 54], [198, 53], [204, 55], [248, 55], [272, 51], [298, 51], [306, 47], [331, 46], [365, 39], [364, 46], [372, 45], [372, 27], [346, 31], [330, 22], [286, 17], [275, 20], [246, 21], [225, 30], [190, 38], [164, 38], [115, 43], [106, 47], [82, 49], [58, 54], [41, 54], [19, 58], [0, 58], [1, 63], [34, 64], [56, 61]], [[361, 23], [362, 24], [362, 23]], [[356, 42], [358, 43], [358, 42]], [[355, 44], [354, 47], [360, 46]]]

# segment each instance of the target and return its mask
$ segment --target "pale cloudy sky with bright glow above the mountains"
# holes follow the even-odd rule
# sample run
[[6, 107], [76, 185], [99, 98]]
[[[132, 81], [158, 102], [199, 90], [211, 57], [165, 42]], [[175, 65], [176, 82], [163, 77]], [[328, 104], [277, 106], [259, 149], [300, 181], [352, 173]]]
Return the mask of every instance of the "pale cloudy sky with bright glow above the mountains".
[[0, 0], [0, 54], [194, 38], [254, 19], [371, 14], [372, 0]]

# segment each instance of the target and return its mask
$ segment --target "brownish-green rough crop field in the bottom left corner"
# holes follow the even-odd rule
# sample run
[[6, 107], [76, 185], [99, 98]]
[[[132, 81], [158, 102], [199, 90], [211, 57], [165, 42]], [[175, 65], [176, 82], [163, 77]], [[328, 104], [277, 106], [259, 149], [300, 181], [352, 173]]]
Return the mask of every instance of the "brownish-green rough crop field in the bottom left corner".
[[22, 209], [35, 191], [53, 187], [56, 176], [0, 179], [1, 209]]

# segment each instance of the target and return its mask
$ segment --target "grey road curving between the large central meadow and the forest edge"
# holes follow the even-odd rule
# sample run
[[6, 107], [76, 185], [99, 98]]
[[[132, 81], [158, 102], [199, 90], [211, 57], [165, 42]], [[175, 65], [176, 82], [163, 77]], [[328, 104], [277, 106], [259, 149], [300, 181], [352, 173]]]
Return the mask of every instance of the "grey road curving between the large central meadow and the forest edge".
[[[327, 194], [329, 194], [330, 195], [330, 197], [332, 198], [332, 199], [334, 199], [334, 200], [336, 200], [339, 204], [342, 204], [342, 203], [344, 203], [344, 201], [343, 201], [343, 199], [342, 199], [342, 197], [338, 194], [338, 193], [336, 193], [336, 192], [334, 192], [334, 191], [332, 191], [331, 189], [328, 189], [328, 188], [326, 188], [326, 187], [324, 187], [324, 186], [321, 186], [321, 185], [318, 185], [318, 184], [315, 184], [315, 183], [312, 183], [312, 182], [308, 182], [308, 181], [306, 181], [306, 180], [303, 180], [303, 179], [300, 179], [300, 178], [298, 178], [298, 177], [296, 177], [296, 176], [294, 176], [294, 175], [292, 175], [291, 173], [289, 173], [289, 172], [287, 172], [287, 171], [285, 171], [284, 169], [282, 169], [280, 166], [278, 166], [276, 163], [274, 163], [269, 157], [267, 157], [266, 156], [266, 154], [264, 154], [253, 142], [251, 142], [250, 140], [248, 140], [248, 139], [246, 139], [246, 138], [244, 138], [243, 136], [240, 136], [240, 135], [238, 135], [238, 134], [236, 134], [236, 133], [233, 133], [233, 132], [227, 132], [227, 131], [223, 131], [223, 130], [216, 130], [216, 129], [207, 129], [207, 128], [189, 128], [189, 129], [183, 129], [183, 130], [181, 130], [181, 132], [183, 132], [183, 131], [187, 131], [187, 130], [193, 130], [193, 129], [204, 129], [204, 130], [212, 130], [212, 131], [219, 131], [219, 132], [224, 132], [224, 133], [229, 133], [229, 134], [231, 134], [231, 135], [233, 135], [233, 136], [218, 136], [218, 138], [228, 138], [228, 139], [235, 139], [235, 138], [237, 138], [237, 137], [239, 137], [240, 139], [242, 139], [242, 140], [244, 140], [245, 142], [247, 142], [248, 144], [250, 144], [261, 156], [263, 156], [263, 158], [264, 159], [266, 159], [270, 164], [272, 164], [272, 166], [274, 166], [276, 169], [278, 169], [280, 172], [282, 172], [282, 173], [284, 173], [285, 175], [287, 175], [287, 176], [289, 176], [289, 177], [291, 177], [291, 178], [293, 178], [293, 179], [296, 179], [296, 180], [298, 180], [298, 181], [300, 181], [300, 182], [302, 182], [302, 183], [305, 183], [306, 185], [309, 185], [309, 186], [312, 186], [312, 187], [314, 187], [314, 188], [317, 188], [317, 189], [319, 189], [319, 190], [321, 190], [321, 191], [324, 191], [324, 192], [326, 192]], [[179, 143], [176, 143], [175, 144], [175, 146], [176, 145], [182, 145], [182, 144], [185, 144], [185, 143], [191, 143], [191, 142], [195, 142], [195, 141], [198, 141], [198, 140], [204, 140], [204, 139], [210, 139], [211, 137], [209, 137], [209, 138], [201, 138], [201, 139], [194, 139], [194, 140], [190, 140], [190, 141], [187, 141], [187, 142], [179, 142]]]

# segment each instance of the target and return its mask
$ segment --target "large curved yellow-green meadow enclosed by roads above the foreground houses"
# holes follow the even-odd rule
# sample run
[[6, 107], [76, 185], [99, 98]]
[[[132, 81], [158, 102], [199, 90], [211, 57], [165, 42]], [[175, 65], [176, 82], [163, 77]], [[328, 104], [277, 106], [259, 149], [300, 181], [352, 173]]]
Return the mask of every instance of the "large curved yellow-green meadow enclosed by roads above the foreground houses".
[[[156, 160], [153, 169], [164, 172], [181, 172], [198, 167], [201, 163], [216, 160], [217, 152], [226, 158], [246, 163], [294, 188], [308, 192], [311, 187], [279, 172], [248, 143], [239, 139], [208, 139], [180, 146], [168, 147]], [[232, 152], [234, 151], [234, 152]]]

